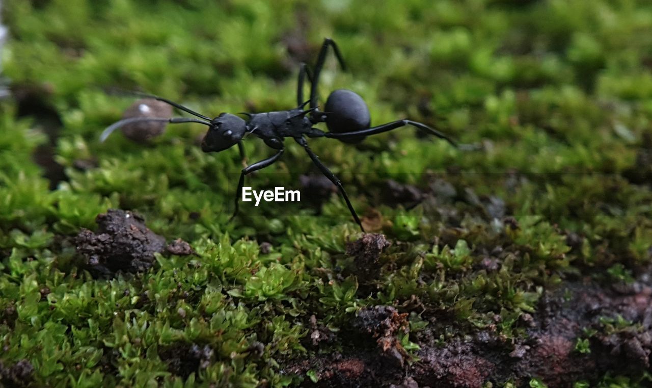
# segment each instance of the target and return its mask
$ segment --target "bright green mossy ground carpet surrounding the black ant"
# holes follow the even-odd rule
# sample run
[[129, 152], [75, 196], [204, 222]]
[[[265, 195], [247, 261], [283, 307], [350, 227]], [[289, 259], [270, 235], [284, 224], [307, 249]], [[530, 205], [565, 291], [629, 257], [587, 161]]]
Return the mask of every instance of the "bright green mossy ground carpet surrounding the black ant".
[[[293, 375], [288, 365], [346, 353], [337, 338], [350, 338], [357, 312], [373, 305], [409, 312], [411, 330], [396, 338], [413, 356], [405, 368], [419, 365], [419, 345], [445, 347], [479, 331], [503, 338], [496, 347], [508, 354], [527, 340], [527, 314], [548, 290], [578, 279], [636, 284], [649, 273], [647, 1], [3, 5], [14, 98], [0, 107], [2, 383], [308, 384], [325, 375]], [[322, 101], [353, 89], [373, 123], [410, 117], [482, 145], [460, 151], [409, 129], [359, 146], [311, 143], [365, 225], [392, 243], [372, 278], [359, 279], [346, 254], [360, 233], [336, 195], [319, 215], [306, 203], [265, 204], [228, 224], [241, 161], [235, 149], [201, 153], [201, 126], [170, 126], [150, 145], [120, 134], [98, 142], [133, 101], [111, 89], [156, 93], [207, 115], [290, 108], [298, 64], [314, 63], [324, 37], [336, 40], [350, 72], [329, 62]], [[250, 161], [269, 155], [261, 142], [245, 143]], [[308, 162], [289, 145], [271, 173], [248, 182], [297, 188], [300, 175], [316, 172]], [[378, 195], [389, 181], [416, 187], [419, 205]], [[160, 255], [145, 273], [93, 278], [74, 236], [109, 208], [144, 215], [196, 256]], [[334, 342], [311, 344], [313, 315]], [[582, 328], [574, 354], [596, 351], [600, 335], [649, 331], [649, 322], [615, 313], [599, 318]], [[21, 374], [23, 360], [33, 372]], [[646, 370], [589, 380], [634, 387]], [[546, 383], [534, 372], [484, 380]]]

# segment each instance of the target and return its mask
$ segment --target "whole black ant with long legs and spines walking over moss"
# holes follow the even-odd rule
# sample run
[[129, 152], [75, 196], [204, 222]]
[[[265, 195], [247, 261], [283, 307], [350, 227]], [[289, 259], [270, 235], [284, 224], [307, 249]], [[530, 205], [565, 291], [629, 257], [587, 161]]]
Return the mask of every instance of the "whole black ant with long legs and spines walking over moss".
[[[193, 112], [185, 106], [167, 100], [166, 98], [143, 95], [144, 97], [155, 98], [156, 100], [170, 104], [175, 108], [179, 108], [191, 115], [199, 117], [199, 119], [189, 117], [172, 117], [170, 119], [158, 117], [132, 117], [117, 121], [117, 123], [106, 128], [102, 133], [100, 140], [104, 141], [113, 130], [131, 123], [143, 121], [159, 121], [173, 124], [201, 123], [209, 127], [208, 132], [206, 132], [206, 135], [201, 142], [202, 151], [220, 152], [237, 144], [241, 156], [244, 159], [244, 149], [242, 144], [244, 135], [253, 134], [254, 136], [258, 136], [258, 138], [261, 138], [265, 144], [275, 149], [276, 154], [273, 157], [266, 158], [243, 168], [240, 174], [240, 181], [238, 182], [237, 195], [235, 196], [235, 210], [230, 218], [230, 220], [232, 220], [238, 213], [238, 198], [243, 190], [244, 176], [248, 173], [261, 170], [276, 162], [276, 160], [283, 155], [284, 139], [293, 138], [295, 142], [299, 143], [299, 145], [306, 150], [306, 153], [308, 153], [312, 162], [314, 162], [319, 170], [321, 170], [321, 173], [330, 179], [331, 182], [333, 182], [333, 184], [340, 190], [355, 222], [357, 222], [360, 229], [364, 231], [360, 218], [355, 213], [355, 209], [353, 209], [353, 205], [351, 205], [351, 201], [349, 201], [340, 179], [338, 179], [331, 170], [324, 166], [319, 160], [319, 157], [312, 152], [312, 149], [308, 146], [308, 142], [306, 142], [306, 136], [308, 138], [333, 138], [341, 140], [342, 142], [357, 143], [361, 142], [368, 135], [379, 134], [406, 125], [411, 125], [428, 132], [429, 134], [437, 136], [438, 138], [447, 140], [447, 142], [454, 146], [456, 146], [456, 144], [441, 132], [430, 128], [425, 124], [417, 123], [416, 121], [408, 119], [397, 120], [376, 127], [370, 127], [371, 117], [363, 98], [347, 89], [333, 91], [326, 100], [325, 112], [321, 112], [318, 106], [317, 87], [319, 84], [319, 74], [321, 73], [321, 68], [323, 68], [329, 46], [333, 48], [333, 52], [335, 53], [342, 69], [346, 70], [344, 60], [342, 59], [342, 55], [340, 54], [337, 45], [333, 40], [326, 38], [321, 46], [321, 50], [319, 51], [319, 57], [314, 72], [311, 74], [307, 65], [305, 63], [301, 64], [299, 70], [299, 84], [297, 86], [297, 108], [280, 112], [240, 113], [247, 117], [246, 120], [230, 113], [221, 113], [218, 117], [211, 119], [210, 117]], [[312, 82], [312, 87], [310, 88], [310, 99], [304, 102], [303, 83], [306, 76], [308, 76], [308, 80]], [[309, 109], [304, 110], [308, 103], [310, 104]], [[324, 132], [323, 130], [314, 128], [313, 126], [317, 123], [326, 123], [329, 132]]]

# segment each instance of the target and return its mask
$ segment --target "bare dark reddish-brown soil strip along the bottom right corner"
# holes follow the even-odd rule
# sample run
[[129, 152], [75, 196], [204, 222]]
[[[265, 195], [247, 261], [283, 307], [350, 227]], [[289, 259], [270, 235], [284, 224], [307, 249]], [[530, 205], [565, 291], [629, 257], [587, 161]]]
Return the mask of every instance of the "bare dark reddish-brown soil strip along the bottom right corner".
[[[396, 334], [408, 329], [406, 314], [391, 306], [364, 308], [348, 332], [338, 333], [339, 342], [348, 344], [344, 350], [295, 360], [285, 372], [306, 376], [313, 370], [319, 387], [408, 388], [481, 388], [486, 381], [501, 386], [508, 380], [525, 387], [533, 377], [548, 387], [572, 387], [580, 380], [595, 383], [608, 371], [642, 376], [651, 370], [651, 279], [648, 270], [617, 287], [589, 278], [567, 281], [546, 291], [536, 312], [522, 314], [518, 327], [524, 334], [515, 338], [487, 327], [442, 344], [448, 320], [426, 309], [422, 318], [430, 324], [410, 337], [421, 347], [413, 353], [419, 359], [405, 363], [397, 362], [396, 355], [406, 353]], [[576, 344], [585, 339], [590, 351], [580, 352]], [[308, 378], [303, 385], [315, 386]]]

